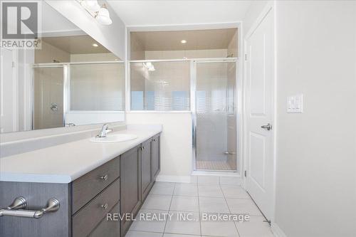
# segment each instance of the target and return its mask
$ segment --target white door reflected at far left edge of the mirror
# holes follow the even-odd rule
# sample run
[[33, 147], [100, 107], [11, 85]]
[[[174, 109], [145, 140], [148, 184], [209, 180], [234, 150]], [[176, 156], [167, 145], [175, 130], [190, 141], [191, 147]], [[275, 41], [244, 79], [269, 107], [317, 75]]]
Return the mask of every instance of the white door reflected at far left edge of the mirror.
[[17, 130], [16, 80], [13, 70], [14, 52], [1, 48], [0, 54], [0, 123], [1, 132]]

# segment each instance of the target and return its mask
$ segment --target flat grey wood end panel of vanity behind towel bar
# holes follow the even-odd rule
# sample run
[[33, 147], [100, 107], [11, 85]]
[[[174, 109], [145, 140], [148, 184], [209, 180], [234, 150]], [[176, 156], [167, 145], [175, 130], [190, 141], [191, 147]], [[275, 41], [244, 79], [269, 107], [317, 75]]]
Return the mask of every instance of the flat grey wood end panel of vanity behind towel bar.
[[42, 218], [0, 216], [1, 237], [70, 237], [70, 189], [68, 184], [0, 181], [0, 208], [9, 206], [16, 196], [27, 201], [26, 209], [41, 209], [48, 199], [61, 203], [58, 211]]

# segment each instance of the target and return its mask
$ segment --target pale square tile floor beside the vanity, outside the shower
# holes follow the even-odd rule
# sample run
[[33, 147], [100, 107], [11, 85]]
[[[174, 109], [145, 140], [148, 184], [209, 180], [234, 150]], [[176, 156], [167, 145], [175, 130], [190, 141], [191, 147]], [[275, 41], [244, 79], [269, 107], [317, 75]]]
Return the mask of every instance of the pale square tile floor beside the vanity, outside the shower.
[[[249, 214], [250, 220], [201, 221], [204, 213]], [[273, 236], [261, 212], [241, 186], [216, 184], [212, 179], [198, 181], [198, 184], [156, 182], [140, 214], [172, 215], [172, 218], [155, 221], [137, 218], [126, 237]], [[184, 214], [189, 214], [194, 221], [174, 218]]]

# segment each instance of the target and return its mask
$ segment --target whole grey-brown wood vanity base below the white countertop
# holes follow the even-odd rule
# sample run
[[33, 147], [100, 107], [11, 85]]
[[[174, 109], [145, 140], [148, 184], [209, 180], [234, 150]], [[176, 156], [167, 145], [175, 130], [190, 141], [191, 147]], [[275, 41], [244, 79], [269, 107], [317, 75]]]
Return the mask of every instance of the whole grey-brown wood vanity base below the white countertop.
[[[29, 209], [38, 209], [53, 197], [61, 207], [39, 219], [1, 217], [0, 236], [123, 237], [152, 189], [159, 159], [155, 135], [69, 184], [1, 181], [0, 190], [6, 191], [0, 191], [0, 206], [24, 196]], [[122, 221], [108, 221], [107, 214], [120, 214]]]

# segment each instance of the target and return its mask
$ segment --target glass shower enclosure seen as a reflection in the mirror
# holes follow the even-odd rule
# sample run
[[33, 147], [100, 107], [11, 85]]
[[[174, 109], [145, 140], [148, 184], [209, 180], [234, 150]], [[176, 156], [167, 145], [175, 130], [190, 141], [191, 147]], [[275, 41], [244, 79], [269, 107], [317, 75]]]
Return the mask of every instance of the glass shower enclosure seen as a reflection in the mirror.
[[36, 63], [32, 68], [33, 130], [73, 126], [70, 112], [124, 110], [122, 61]]

